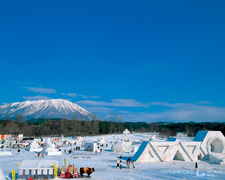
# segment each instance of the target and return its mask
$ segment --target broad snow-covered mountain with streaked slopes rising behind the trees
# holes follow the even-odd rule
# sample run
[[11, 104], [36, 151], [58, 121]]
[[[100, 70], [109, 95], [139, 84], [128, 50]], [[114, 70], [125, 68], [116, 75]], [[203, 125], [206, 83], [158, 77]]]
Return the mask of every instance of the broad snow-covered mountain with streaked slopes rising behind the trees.
[[84, 108], [64, 99], [24, 101], [0, 106], [0, 119], [13, 119], [23, 115], [26, 119], [67, 118], [92, 119], [94, 116]]

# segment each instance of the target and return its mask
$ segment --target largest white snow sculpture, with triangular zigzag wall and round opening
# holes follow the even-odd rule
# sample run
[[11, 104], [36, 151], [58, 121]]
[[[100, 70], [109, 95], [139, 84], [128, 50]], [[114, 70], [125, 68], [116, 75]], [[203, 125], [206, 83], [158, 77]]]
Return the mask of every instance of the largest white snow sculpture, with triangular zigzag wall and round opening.
[[143, 141], [131, 160], [149, 163], [198, 161], [203, 158], [213, 163], [225, 163], [225, 137], [220, 131], [199, 131], [193, 141], [180, 141], [177, 138]]

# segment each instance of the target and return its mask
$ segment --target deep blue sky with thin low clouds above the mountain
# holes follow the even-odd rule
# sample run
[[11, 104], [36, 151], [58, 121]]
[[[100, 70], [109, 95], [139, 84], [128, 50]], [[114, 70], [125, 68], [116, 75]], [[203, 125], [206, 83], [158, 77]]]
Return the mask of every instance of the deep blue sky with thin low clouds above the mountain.
[[225, 1], [0, 2], [0, 103], [225, 120]]

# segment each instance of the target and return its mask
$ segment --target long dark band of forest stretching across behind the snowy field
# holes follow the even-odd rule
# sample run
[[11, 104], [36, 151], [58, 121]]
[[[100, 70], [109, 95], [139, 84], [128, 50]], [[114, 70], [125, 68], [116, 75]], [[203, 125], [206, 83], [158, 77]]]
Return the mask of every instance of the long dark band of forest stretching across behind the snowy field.
[[177, 132], [185, 132], [195, 136], [198, 131], [217, 130], [225, 135], [225, 123], [146, 123], [122, 122], [121, 120], [67, 120], [67, 119], [38, 119], [26, 120], [18, 115], [15, 120], [0, 120], [0, 134], [24, 134], [25, 136], [91, 136], [101, 134], [122, 133], [124, 129], [131, 132], [159, 132], [169, 137]]

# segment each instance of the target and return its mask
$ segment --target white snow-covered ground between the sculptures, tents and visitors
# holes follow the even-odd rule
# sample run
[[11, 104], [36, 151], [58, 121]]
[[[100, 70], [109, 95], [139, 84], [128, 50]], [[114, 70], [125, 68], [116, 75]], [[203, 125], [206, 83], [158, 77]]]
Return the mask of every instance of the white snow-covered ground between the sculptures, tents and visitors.
[[[113, 137], [114, 136], [114, 137]], [[97, 140], [100, 136], [84, 137], [85, 141]], [[123, 135], [105, 135], [105, 140], [110, 144], [111, 141], [120, 140]], [[131, 135], [134, 140], [148, 139], [148, 134]], [[62, 147], [67, 151], [71, 147]], [[73, 146], [74, 148], [74, 146]], [[67, 165], [74, 164], [75, 167], [94, 167], [95, 172], [91, 174], [91, 179], [96, 180], [121, 180], [121, 179], [225, 179], [225, 165], [209, 164], [199, 161], [199, 171], [194, 170], [195, 162], [161, 162], [149, 164], [135, 164], [135, 169], [117, 169], [116, 160], [120, 155], [133, 156], [128, 153], [115, 153], [110, 151], [109, 145], [102, 153], [95, 155], [93, 152], [73, 151], [72, 154], [62, 154], [59, 156], [45, 156], [44, 159], [58, 160], [63, 165], [66, 158]], [[12, 156], [0, 156], [0, 168], [4, 175], [8, 176], [11, 170], [18, 171], [18, 163], [23, 160], [38, 160], [37, 154], [21, 149], [18, 154], [17, 150], [12, 150]], [[123, 162], [124, 167], [126, 166]], [[85, 179], [85, 178], [83, 178]]]

